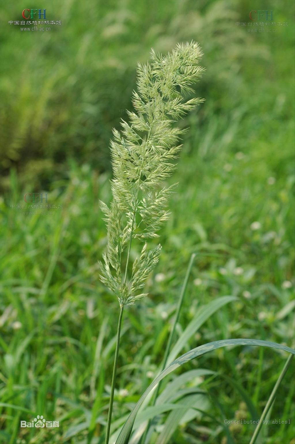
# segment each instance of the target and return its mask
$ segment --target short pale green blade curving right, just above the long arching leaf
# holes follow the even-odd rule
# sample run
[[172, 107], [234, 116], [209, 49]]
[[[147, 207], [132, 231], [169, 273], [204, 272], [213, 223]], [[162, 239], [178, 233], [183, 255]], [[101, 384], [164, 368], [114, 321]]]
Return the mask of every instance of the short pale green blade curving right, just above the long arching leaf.
[[207, 305], [201, 306], [191, 322], [187, 325], [187, 328], [184, 330], [182, 335], [179, 337], [178, 341], [174, 345], [173, 349], [171, 350], [168, 359], [167, 364], [170, 364], [178, 355], [178, 353], [181, 352], [184, 345], [187, 344], [187, 341], [190, 340], [190, 338], [195, 334], [195, 332], [200, 328], [201, 325], [203, 325], [204, 322], [207, 321], [207, 319], [215, 313], [215, 311], [219, 310], [223, 305], [228, 304], [229, 302], [236, 301], [238, 298], [235, 296], [222, 296], [218, 297], [217, 299], [214, 299], [214, 301], [210, 302]]

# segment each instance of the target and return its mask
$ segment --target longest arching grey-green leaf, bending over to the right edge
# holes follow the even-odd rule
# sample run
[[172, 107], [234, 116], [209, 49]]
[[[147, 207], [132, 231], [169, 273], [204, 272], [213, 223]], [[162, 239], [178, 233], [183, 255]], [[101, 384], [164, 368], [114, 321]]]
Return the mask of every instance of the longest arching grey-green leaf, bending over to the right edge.
[[286, 347], [285, 345], [276, 344], [275, 342], [260, 341], [258, 339], [225, 339], [222, 341], [209, 342], [208, 344], [200, 345], [199, 347], [196, 347], [195, 349], [192, 349], [189, 352], [184, 353], [182, 356], [177, 358], [175, 361], [171, 362], [171, 364], [165, 370], [163, 370], [163, 372], [161, 372], [158, 377], [155, 378], [155, 380], [151, 383], [151, 385], [148, 387], [148, 389], [146, 389], [146, 391], [141, 396], [140, 400], [137, 402], [136, 406], [133, 408], [132, 412], [130, 413], [128, 420], [124, 424], [124, 427], [122, 428], [120, 435], [118, 436], [118, 439], [116, 440], [116, 444], [128, 443], [137, 412], [138, 412], [141, 404], [144, 402], [145, 398], [148, 396], [148, 394], [151, 392], [151, 390], [159, 383], [159, 381], [161, 381], [165, 376], [167, 376], [169, 373], [173, 372], [175, 369], [177, 369], [181, 365], [186, 364], [188, 361], [191, 361], [192, 359], [194, 359], [196, 357], [202, 356], [205, 353], [208, 353], [212, 350], [220, 349], [222, 347], [227, 347], [229, 345], [232, 345], [232, 346], [233, 345], [254, 345], [254, 346], [261, 346], [261, 347], [269, 347], [272, 349], [284, 350], [288, 353], [295, 354], [295, 350], [290, 349], [290, 347]]

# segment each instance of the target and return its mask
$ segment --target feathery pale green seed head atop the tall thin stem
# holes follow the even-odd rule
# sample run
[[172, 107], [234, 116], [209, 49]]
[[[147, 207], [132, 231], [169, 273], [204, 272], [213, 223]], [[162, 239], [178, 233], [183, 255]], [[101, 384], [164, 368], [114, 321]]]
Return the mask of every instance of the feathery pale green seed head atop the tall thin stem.
[[[100, 202], [108, 229], [100, 278], [120, 305], [130, 305], [146, 295], [140, 290], [159, 260], [161, 246], [148, 249], [147, 242], [159, 237], [156, 232], [169, 215], [167, 200], [174, 186], [163, 187], [162, 182], [175, 169], [173, 161], [183, 133], [173, 122], [203, 101], [183, 99], [202, 75], [201, 56], [195, 42], [178, 44], [167, 56], [152, 50], [151, 63], [138, 64], [137, 92], [132, 97], [135, 112], [127, 111], [130, 121], [122, 120], [121, 133], [113, 130], [113, 200], [109, 207]], [[144, 246], [128, 278], [134, 239]]]

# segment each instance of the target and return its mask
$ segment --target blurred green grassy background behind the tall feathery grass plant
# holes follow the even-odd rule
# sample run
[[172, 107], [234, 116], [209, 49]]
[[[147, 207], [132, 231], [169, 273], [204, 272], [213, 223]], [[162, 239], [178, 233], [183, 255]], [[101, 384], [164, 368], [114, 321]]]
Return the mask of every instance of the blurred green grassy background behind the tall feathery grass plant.
[[[169, 180], [179, 186], [149, 296], [124, 313], [113, 436], [163, 358], [193, 252], [177, 334], [200, 305], [237, 301], [183, 353], [234, 337], [294, 347], [294, 5], [1, 0], [2, 443], [102, 442], [119, 305], [98, 277], [106, 245], [98, 200], [111, 198], [112, 127], [128, 119], [136, 64], [151, 47], [166, 53], [198, 41], [206, 72], [195, 91], [206, 101], [180, 123], [189, 131]], [[8, 22], [22, 20], [24, 8], [46, 8], [46, 20], [61, 25], [21, 31]], [[272, 11], [276, 24], [256, 26], [251, 10]], [[24, 194], [41, 192], [47, 214], [24, 214], [39, 211]], [[286, 357], [223, 349], [185, 365], [219, 373], [198, 381], [207, 393], [198, 408], [211, 417], [179, 415], [168, 442], [248, 443], [253, 425], [220, 424], [251, 419], [245, 404], [262, 412]], [[294, 368], [270, 416], [291, 425], [270, 424], [259, 443], [295, 442], [293, 377]], [[20, 428], [37, 414], [60, 427]]]

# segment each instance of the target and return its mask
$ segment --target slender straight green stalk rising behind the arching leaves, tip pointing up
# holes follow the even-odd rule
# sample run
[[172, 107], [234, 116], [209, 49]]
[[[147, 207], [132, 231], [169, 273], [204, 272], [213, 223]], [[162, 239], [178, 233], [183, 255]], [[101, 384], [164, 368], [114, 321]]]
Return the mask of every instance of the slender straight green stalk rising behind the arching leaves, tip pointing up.
[[[186, 275], [185, 275], [185, 278], [184, 278], [184, 281], [183, 281], [183, 285], [182, 285], [182, 288], [181, 288], [181, 292], [180, 292], [180, 295], [179, 295], [178, 305], [177, 305], [177, 309], [176, 309], [176, 316], [175, 316], [175, 319], [174, 319], [174, 322], [173, 322], [173, 325], [172, 325], [172, 328], [171, 328], [171, 331], [170, 331], [170, 335], [169, 335], [167, 346], [166, 346], [166, 349], [165, 349], [162, 365], [160, 367], [160, 372], [162, 372], [165, 369], [166, 364], [167, 364], [167, 359], [168, 359], [169, 352], [170, 352], [170, 349], [171, 349], [172, 339], [173, 339], [173, 336], [174, 336], [174, 332], [175, 332], [175, 328], [176, 328], [177, 322], [179, 320], [179, 314], [180, 314], [180, 310], [181, 310], [181, 307], [182, 307], [182, 304], [183, 304], [183, 298], [184, 298], [185, 292], [187, 290], [187, 282], [188, 282], [188, 279], [189, 279], [190, 274], [191, 274], [191, 267], [192, 267], [192, 264], [194, 262], [194, 259], [195, 259], [195, 253], [193, 253], [191, 255], [191, 259], [190, 259], [190, 262], [189, 262], [188, 267], [187, 267], [187, 272], [186, 272]], [[159, 390], [160, 390], [161, 382], [162, 381], [159, 382], [159, 384], [157, 385], [157, 387], [155, 389], [155, 394], [153, 396], [153, 400], [152, 400], [152, 404], [151, 404], [152, 406], [155, 405], [155, 401], [157, 400], [157, 397], [158, 397], [158, 394], [159, 394]], [[145, 440], [146, 440], [147, 434], [148, 434], [148, 429], [150, 428], [150, 426], [151, 426], [151, 420], [148, 421], [148, 425], [147, 425], [147, 427], [146, 427], [146, 429], [144, 431], [144, 435], [143, 435], [143, 438], [142, 438], [142, 442], [143, 443], [145, 443]]]

